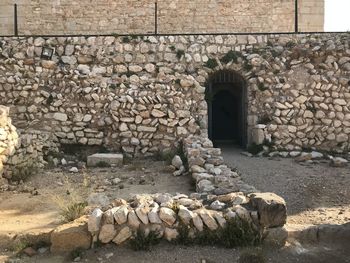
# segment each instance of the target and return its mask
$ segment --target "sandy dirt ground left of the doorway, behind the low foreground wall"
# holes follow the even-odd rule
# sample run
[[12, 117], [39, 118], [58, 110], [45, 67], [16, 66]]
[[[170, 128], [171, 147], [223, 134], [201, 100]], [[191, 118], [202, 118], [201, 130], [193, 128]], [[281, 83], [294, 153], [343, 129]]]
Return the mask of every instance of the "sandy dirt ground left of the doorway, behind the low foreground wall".
[[[0, 193], [0, 237], [49, 232], [62, 222], [60, 205], [82, 202], [91, 193], [103, 193], [112, 201], [142, 193], [192, 192], [189, 176], [174, 177], [166, 167], [162, 161], [138, 160], [121, 168], [78, 173], [70, 173], [69, 167], [41, 171], [23, 187]], [[113, 184], [115, 178], [120, 182]]]

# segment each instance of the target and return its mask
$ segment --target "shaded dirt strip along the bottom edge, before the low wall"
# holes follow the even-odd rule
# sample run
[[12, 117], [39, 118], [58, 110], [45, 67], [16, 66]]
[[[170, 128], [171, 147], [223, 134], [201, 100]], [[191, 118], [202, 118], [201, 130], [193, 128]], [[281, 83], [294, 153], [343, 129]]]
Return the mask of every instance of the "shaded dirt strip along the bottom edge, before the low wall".
[[[256, 252], [258, 251], [258, 252]], [[113, 244], [98, 249], [90, 249], [80, 256], [79, 262], [104, 263], [236, 263], [244, 254], [257, 253], [258, 261], [244, 263], [350, 263], [350, 246], [301, 246], [288, 245], [278, 248], [237, 248], [174, 246], [166, 242], [152, 247], [150, 251], [134, 251], [128, 247], [116, 247]], [[5, 257], [3, 257], [5, 258]], [[73, 262], [71, 255], [52, 255], [45, 252], [29, 258], [12, 257], [10, 262], [23, 263], [63, 263]], [[0, 262], [1, 255], [0, 255]]]

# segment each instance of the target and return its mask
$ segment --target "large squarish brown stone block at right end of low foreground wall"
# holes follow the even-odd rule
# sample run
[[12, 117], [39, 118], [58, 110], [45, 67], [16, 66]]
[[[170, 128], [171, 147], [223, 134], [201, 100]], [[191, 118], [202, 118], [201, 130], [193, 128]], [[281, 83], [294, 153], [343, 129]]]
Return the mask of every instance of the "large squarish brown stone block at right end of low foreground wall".
[[274, 193], [253, 193], [249, 204], [257, 209], [263, 227], [280, 227], [287, 221], [287, 206], [284, 199]]

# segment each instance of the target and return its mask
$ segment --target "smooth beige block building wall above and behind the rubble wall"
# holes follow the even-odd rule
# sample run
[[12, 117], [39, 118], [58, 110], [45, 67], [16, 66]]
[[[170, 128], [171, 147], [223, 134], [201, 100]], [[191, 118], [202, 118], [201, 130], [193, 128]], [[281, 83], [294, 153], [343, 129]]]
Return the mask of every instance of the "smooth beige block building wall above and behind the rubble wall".
[[[1, 0], [0, 35], [14, 34], [15, 3], [20, 35], [149, 34], [155, 33], [156, 27], [160, 34], [273, 33], [293, 32], [295, 28], [295, 0], [92, 2]], [[299, 2], [299, 31], [323, 31], [324, 0]]]

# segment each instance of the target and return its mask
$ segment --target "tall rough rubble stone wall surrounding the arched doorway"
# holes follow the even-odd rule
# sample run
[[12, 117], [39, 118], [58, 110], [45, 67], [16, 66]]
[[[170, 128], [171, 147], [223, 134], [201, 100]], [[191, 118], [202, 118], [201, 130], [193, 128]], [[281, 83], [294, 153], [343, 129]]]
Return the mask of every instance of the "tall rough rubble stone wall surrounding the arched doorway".
[[[226, 69], [247, 83], [248, 142], [261, 124], [273, 149], [349, 150], [349, 34], [0, 43], [0, 103], [16, 127], [54, 133], [60, 143], [131, 156], [175, 147], [207, 129], [205, 83]], [[40, 59], [43, 46], [55, 48], [52, 60]]]

